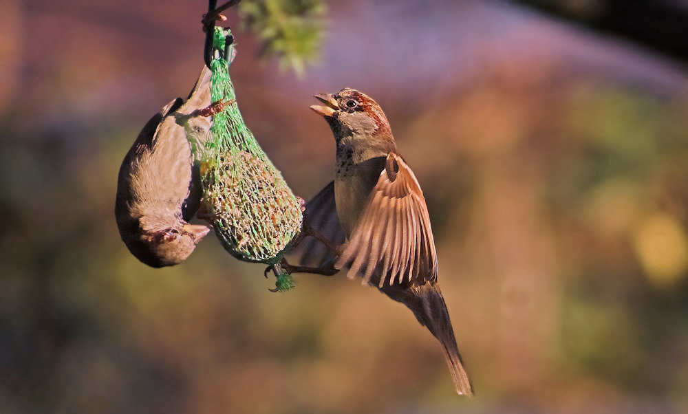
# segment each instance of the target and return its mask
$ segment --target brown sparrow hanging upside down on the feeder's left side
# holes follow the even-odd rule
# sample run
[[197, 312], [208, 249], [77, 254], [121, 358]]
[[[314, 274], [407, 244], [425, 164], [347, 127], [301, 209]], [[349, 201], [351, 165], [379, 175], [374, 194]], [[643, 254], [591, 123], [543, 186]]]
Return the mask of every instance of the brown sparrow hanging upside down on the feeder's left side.
[[179, 264], [210, 230], [189, 224], [202, 196], [190, 142], [205, 142], [211, 116], [224, 105], [211, 105], [210, 76], [204, 66], [186, 102], [176, 98], [145, 124], [120, 167], [120, 236], [131, 254], [153, 268]]

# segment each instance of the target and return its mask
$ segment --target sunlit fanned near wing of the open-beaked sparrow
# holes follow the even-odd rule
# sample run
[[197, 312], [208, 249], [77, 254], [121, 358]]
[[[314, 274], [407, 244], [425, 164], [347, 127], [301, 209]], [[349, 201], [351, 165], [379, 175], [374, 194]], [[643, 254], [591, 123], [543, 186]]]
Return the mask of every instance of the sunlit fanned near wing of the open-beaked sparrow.
[[348, 276], [384, 285], [437, 280], [437, 254], [430, 217], [416, 176], [390, 153], [356, 228], [335, 267]]

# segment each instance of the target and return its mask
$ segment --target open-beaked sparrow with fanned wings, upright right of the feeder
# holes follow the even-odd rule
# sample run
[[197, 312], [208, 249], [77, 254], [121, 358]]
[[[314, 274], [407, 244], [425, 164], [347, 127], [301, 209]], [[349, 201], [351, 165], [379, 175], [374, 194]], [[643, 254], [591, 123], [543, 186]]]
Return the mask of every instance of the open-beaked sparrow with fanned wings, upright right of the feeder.
[[336, 140], [336, 178], [306, 205], [305, 221], [329, 232], [332, 241], [345, 240], [330, 248], [334, 259], [322, 266], [322, 273], [349, 267], [350, 278], [361, 276], [364, 284], [409, 307], [442, 344], [456, 392], [471, 395], [438, 284], [425, 199], [397, 152], [385, 113], [354, 89], [315, 97], [325, 106], [310, 108], [327, 120]]

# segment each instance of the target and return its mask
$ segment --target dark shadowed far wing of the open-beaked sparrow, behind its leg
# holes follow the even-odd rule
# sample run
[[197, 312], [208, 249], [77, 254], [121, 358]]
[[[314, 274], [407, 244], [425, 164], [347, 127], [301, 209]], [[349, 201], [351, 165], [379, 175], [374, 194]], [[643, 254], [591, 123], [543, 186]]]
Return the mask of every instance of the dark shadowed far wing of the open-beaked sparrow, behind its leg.
[[[344, 243], [344, 229], [337, 217], [334, 202], [334, 181], [327, 184], [320, 193], [305, 205], [304, 221], [336, 245]], [[314, 237], [305, 237], [293, 250], [299, 264], [319, 267], [336, 258], [332, 250]]]

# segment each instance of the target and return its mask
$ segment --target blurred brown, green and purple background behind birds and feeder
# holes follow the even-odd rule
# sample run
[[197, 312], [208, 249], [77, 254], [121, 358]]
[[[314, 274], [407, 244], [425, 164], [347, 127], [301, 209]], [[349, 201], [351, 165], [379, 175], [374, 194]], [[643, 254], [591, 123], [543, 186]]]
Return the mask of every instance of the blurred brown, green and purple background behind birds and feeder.
[[334, 175], [312, 94], [385, 109], [469, 400], [411, 312], [343, 274], [273, 294], [212, 236], [162, 270], [125, 248], [118, 168], [193, 86], [206, 1], [3, 0], [0, 412], [688, 411], [685, 56], [599, 32], [605, 1], [524, 3], [556, 2], [311, 1], [301, 60], [227, 12], [239, 107], [295, 193]]

